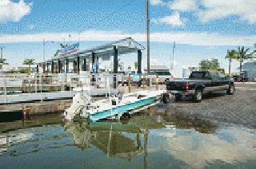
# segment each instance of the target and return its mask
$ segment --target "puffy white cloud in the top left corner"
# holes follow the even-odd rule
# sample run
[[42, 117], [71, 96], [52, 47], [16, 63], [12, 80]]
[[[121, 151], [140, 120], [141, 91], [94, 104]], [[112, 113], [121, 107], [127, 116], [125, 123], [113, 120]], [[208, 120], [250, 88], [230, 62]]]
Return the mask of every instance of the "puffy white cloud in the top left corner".
[[26, 3], [23, 0], [19, 2], [1, 0], [0, 23], [20, 21], [25, 15], [30, 14], [31, 6], [31, 3]]

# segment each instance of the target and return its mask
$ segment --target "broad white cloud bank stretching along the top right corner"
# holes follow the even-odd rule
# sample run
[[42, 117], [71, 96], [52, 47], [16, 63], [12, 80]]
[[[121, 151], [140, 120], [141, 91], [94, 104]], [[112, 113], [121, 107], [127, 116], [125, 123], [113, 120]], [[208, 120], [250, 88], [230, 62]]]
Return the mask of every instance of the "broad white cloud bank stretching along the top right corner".
[[242, 21], [256, 23], [256, 0], [154, 0], [151, 4], [168, 6], [178, 12], [193, 12], [202, 22], [238, 16]]

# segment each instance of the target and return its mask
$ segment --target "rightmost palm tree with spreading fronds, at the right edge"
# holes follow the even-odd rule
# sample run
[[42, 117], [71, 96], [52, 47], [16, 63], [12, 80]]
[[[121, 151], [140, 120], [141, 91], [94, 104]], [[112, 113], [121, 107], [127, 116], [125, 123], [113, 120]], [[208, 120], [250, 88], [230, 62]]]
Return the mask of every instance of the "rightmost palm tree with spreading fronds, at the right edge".
[[245, 46], [238, 46], [238, 58], [237, 60], [240, 62], [240, 73], [242, 73], [242, 63], [245, 60], [255, 58], [254, 54], [256, 52], [253, 51], [250, 53], [250, 48], [245, 48]]

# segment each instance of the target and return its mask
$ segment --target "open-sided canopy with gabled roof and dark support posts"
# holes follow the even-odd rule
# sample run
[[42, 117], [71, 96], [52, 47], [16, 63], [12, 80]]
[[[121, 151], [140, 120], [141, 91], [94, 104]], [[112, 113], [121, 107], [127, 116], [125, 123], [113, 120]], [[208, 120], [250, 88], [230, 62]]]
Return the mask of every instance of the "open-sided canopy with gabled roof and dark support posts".
[[[99, 58], [102, 58], [102, 61], [104, 61], [114, 56], [113, 73], [118, 73], [118, 56], [128, 53], [138, 53], [138, 73], [142, 73], [142, 50], [144, 49], [145, 47], [143, 45], [134, 41], [131, 37], [127, 37], [120, 41], [114, 41], [92, 49], [79, 50], [78, 52], [66, 54], [62, 57], [54, 57], [48, 61], [38, 63], [38, 68], [42, 66], [43, 73], [69, 73], [69, 64], [71, 62], [73, 63], [73, 73], [79, 73], [81, 70], [89, 71], [93, 69], [90, 69], [88, 66], [88, 61], [91, 61], [92, 66], [94, 66]], [[51, 67], [51, 70], [49, 67]], [[54, 67], [58, 69], [54, 69]], [[64, 67], [65, 72], [63, 72]]]

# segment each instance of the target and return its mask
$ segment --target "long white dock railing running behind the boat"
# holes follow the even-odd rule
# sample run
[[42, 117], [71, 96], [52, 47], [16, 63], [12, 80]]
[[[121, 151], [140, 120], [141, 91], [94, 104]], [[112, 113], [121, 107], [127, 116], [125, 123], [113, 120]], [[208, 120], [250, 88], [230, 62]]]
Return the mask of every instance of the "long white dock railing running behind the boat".
[[[60, 74], [0, 74], [0, 104], [33, 100], [66, 99], [74, 96], [74, 88], [114, 88], [122, 92], [156, 89], [157, 76], [113, 73], [60, 73]], [[115, 81], [114, 81], [114, 77]], [[151, 85], [146, 85], [150, 78]], [[129, 87], [130, 82], [130, 89]], [[161, 88], [161, 87], [160, 87]]]

